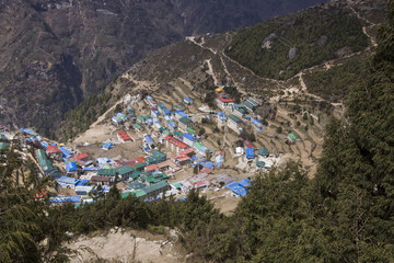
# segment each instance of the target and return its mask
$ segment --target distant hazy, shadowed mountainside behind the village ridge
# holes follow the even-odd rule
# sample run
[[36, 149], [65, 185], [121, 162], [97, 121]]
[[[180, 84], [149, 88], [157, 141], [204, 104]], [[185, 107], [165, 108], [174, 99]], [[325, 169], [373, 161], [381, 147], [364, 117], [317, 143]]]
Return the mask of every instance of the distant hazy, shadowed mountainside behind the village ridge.
[[0, 122], [49, 134], [65, 112], [159, 47], [318, 2], [2, 0]]

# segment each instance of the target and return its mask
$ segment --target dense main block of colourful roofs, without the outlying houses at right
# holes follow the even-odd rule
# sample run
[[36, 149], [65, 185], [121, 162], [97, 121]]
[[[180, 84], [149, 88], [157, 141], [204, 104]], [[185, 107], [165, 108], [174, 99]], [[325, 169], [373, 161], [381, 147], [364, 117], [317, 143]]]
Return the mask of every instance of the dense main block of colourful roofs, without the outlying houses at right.
[[[21, 130], [28, 142], [35, 142], [36, 146], [39, 146], [39, 149], [35, 150], [35, 158], [43, 176], [50, 176], [58, 182], [59, 188], [73, 190], [76, 193], [74, 198], [57, 196], [51, 198], [51, 202], [78, 201], [81, 203], [99, 188], [108, 192], [115, 182], [125, 183], [124, 197], [132, 194], [147, 199], [157, 198], [159, 194], [164, 192], [175, 194], [179, 191], [202, 186], [201, 182], [195, 183], [192, 179], [185, 181], [184, 184], [179, 182], [177, 186], [167, 181], [184, 165], [204, 165], [197, 176], [209, 174], [215, 167], [213, 162], [206, 160], [206, 157], [212, 155], [212, 151], [199, 141], [196, 130], [193, 129], [194, 122], [179, 107], [170, 111], [164, 104], [158, 104], [151, 96], [148, 96], [146, 101], [149, 105], [155, 106], [151, 110], [152, 117], [151, 115], [135, 117], [135, 111], [131, 111], [131, 107], [127, 110], [127, 114], [117, 113], [116, 116], [112, 117], [115, 125], [131, 121], [139, 125], [135, 125], [137, 129], [142, 129], [143, 126], [152, 126], [149, 129], [152, 135], [143, 135], [141, 148], [146, 155], [132, 160], [94, 159], [86, 152], [76, 152], [76, 150], [45, 140], [33, 129]], [[185, 103], [190, 104], [193, 100], [185, 98]], [[176, 125], [171, 125], [171, 123]], [[134, 140], [125, 130], [117, 132], [116, 137], [119, 142]], [[157, 137], [157, 141], [153, 137]], [[167, 157], [166, 153], [158, 150], [157, 142], [165, 146], [172, 156]], [[101, 146], [105, 150], [112, 147], [114, 147], [113, 142]], [[216, 156], [216, 159], [218, 160], [217, 163], [221, 165], [224, 161], [224, 155]], [[182, 186], [179, 187], [179, 185]], [[208, 186], [210, 183], [205, 185]]]

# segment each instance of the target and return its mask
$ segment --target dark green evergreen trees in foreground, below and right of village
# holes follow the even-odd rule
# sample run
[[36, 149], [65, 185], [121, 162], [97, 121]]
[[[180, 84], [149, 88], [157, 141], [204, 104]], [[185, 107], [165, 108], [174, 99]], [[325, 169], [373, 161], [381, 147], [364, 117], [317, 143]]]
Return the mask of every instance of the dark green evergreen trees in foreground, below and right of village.
[[113, 188], [82, 208], [49, 208], [33, 198], [45, 182], [15, 183], [22, 163], [11, 150], [0, 167], [0, 261], [66, 262], [66, 231], [167, 226], [195, 262], [394, 262], [393, 43], [389, 0], [367, 80], [349, 87], [346, 117], [327, 126], [315, 176], [298, 163], [260, 174], [230, 217], [197, 192], [148, 203]]

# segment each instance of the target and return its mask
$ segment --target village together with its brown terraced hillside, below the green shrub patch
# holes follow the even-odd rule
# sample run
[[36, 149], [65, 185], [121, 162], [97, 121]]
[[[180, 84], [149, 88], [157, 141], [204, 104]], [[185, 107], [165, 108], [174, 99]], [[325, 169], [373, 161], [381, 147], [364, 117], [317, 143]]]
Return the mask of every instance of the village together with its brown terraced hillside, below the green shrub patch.
[[[231, 213], [255, 175], [291, 159], [313, 174], [324, 127], [344, 107], [311, 93], [305, 76], [336, 60], [287, 81], [262, 78], [225, 54], [232, 37], [186, 37], [135, 65], [106, 91], [111, 108], [86, 107], [82, 115], [102, 115], [73, 140], [1, 127], [0, 149], [19, 141], [39, 174], [57, 182], [50, 202], [76, 207], [111, 187], [144, 201], [183, 199], [195, 188]], [[351, 56], [338, 65], [344, 59]]]

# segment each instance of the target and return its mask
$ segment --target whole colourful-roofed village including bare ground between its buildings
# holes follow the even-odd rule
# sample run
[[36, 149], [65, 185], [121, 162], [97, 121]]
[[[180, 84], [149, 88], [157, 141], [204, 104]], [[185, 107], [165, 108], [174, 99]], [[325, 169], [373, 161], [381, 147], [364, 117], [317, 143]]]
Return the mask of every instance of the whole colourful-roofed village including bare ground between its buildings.
[[[195, 188], [230, 213], [239, 197], [247, 194], [254, 175], [279, 165], [283, 152], [270, 152], [256, 142], [266, 132], [256, 114], [263, 102], [247, 98], [235, 103], [225, 92], [229, 89], [236, 90], [216, 89], [216, 111], [198, 106], [197, 93], [174, 105], [153, 94], [126, 96], [124, 106], [104, 121], [111, 133], [82, 144], [78, 139], [59, 144], [31, 128], [10, 132], [3, 127], [1, 149], [10, 147], [9, 140], [21, 141], [24, 151], [35, 149], [32, 158], [40, 176], [50, 176], [58, 184], [56, 196], [49, 197], [54, 204], [71, 202], [78, 207], [115, 185], [123, 197], [146, 201], [183, 199]], [[290, 133], [283, 144], [298, 140]]]

